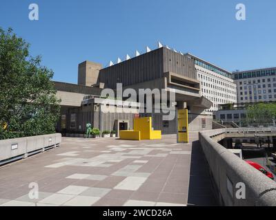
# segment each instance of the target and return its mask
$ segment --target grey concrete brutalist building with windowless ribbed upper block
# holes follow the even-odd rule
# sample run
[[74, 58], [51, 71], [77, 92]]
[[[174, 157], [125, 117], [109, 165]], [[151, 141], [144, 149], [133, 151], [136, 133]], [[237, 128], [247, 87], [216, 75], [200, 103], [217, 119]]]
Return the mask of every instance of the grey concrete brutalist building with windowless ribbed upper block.
[[[57, 96], [61, 98], [61, 119], [57, 131], [61, 133], [84, 133], [86, 123], [101, 131], [132, 129], [134, 117], [151, 116], [155, 130], [162, 133], [176, 133], [177, 116], [164, 121], [164, 113], [141, 113], [139, 97], [136, 102], [112, 102], [114, 112], [102, 111], [104, 98], [102, 89], [110, 88], [116, 92], [117, 83], [124, 89], [165, 89], [175, 93], [176, 109], [188, 108], [190, 131], [212, 129], [213, 118], [206, 115], [205, 109], [212, 105], [201, 96], [201, 85], [197, 80], [195, 60], [189, 54], [180, 54], [166, 47], [146, 52], [126, 61], [106, 68], [101, 64], [84, 61], [79, 64], [78, 85], [55, 82]], [[170, 98], [169, 95], [167, 95]], [[152, 98], [155, 100], [155, 98]], [[154, 102], [154, 101], [153, 101]], [[127, 106], [124, 106], [127, 104]], [[128, 112], [122, 111], [128, 108]]]

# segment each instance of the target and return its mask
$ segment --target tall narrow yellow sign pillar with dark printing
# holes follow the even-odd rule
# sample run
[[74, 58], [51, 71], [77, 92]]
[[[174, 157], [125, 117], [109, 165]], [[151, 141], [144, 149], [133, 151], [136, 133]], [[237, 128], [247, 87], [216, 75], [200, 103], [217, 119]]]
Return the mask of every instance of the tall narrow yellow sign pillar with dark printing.
[[177, 111], [177, 143], [188, 143], [188, 109]]

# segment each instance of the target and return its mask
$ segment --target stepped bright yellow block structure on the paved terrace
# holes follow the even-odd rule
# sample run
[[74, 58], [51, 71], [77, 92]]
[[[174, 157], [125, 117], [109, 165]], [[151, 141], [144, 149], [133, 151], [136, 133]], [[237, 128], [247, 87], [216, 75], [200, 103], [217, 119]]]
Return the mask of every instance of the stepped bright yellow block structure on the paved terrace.
[[120, 139], [124, 140], [155, 140], [161, 139], [161, 131], [152, 130], [151, 117], [134, 118], [133, 130], [120, 131]]

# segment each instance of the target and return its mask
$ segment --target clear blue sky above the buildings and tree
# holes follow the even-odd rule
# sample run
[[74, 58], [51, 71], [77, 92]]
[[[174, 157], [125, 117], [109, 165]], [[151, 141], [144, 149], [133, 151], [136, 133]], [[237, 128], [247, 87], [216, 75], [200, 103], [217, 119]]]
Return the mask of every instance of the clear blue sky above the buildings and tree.
[[[28, 19], [30, 3], [39, 21]], [[235, 19], [237, 3], [246, 21]], [[78, 63], [106, 66], [157, 41], [230, 72], [274, 67], [275, 8], [275, 0], [1, 0], [0, 26], [26, 39], [54, 80], [77, 83]]]

